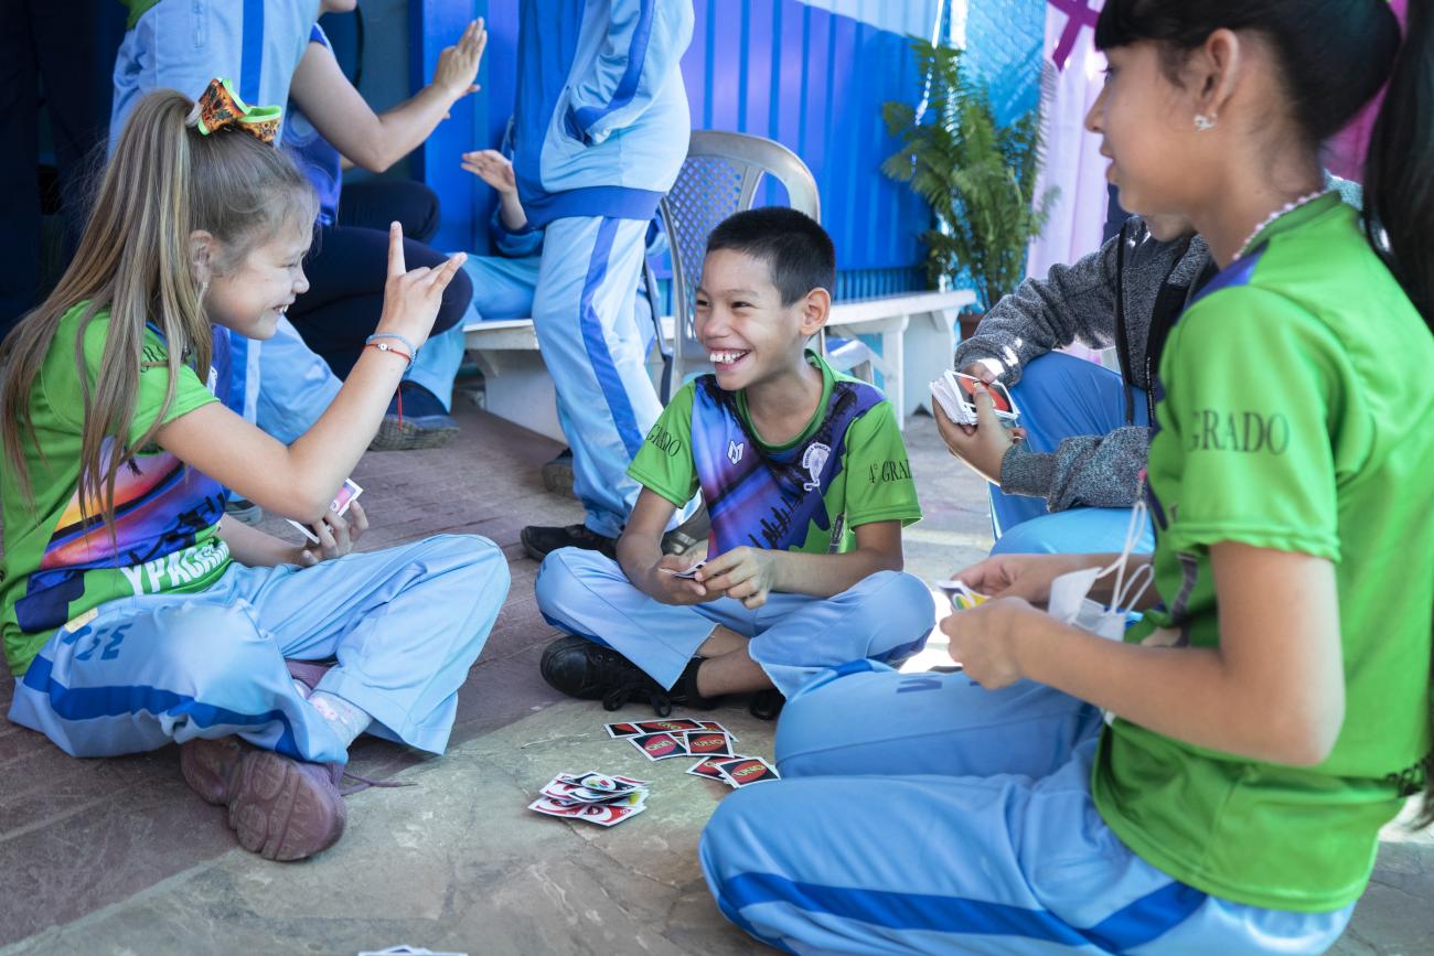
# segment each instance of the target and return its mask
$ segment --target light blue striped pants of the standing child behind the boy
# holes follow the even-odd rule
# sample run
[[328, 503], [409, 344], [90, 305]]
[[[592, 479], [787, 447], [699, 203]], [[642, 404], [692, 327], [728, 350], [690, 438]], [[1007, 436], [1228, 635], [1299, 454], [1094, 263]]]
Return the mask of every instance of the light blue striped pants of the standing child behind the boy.
[[589, 530], [615, 537], [637, 503], [627, 476], [661, 413], [634, 318], [647, 222], [601, 216], [548, 225], [533, 327], [572, 447], [574, 493]]

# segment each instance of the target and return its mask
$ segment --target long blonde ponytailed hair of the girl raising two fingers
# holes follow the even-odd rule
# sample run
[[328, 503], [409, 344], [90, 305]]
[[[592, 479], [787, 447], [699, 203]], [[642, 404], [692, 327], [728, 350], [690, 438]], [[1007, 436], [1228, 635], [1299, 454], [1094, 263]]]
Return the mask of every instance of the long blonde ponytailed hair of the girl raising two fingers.
[[[211, 325], [191, 262], [191, 232], [219, 241], [222, 259], [238, 267], [281, 228], [313, 222], [315, 201], [303, 173], [281, 150], [248, 133], [219, 129], [204, 136], [189, 122], [194, 102], [174, 90], [143, 97], [105, 168], [79, 249], [59, 285], [0, 345], [0, 439], [10, 479], [34, 505], [26, 447], [43, 456], [32, 417], [32, 393], [52, 348], [69, 350], [80, 381], [80, 507], [113, 522], [115, 480], [135, 451], [155, 440], [174, 401], [182, 365], [201, 380], [209, 368]], [[56, 343], [60, 321], [82, 307], [73, 343]], [[105, 351], [90, 378], [86, 330], [108, 314]], [[168, 386], [155, 421], [130, 444], [145, 325], [163, 337]], [[113, 453], [105, 453], [113, 439]]]

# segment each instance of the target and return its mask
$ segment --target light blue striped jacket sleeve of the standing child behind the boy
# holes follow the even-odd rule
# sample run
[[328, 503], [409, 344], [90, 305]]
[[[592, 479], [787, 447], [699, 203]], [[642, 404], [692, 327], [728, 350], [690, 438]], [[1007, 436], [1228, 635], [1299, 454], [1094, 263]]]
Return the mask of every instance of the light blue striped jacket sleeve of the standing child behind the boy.
[[612, 0], [608, 33], [587, 76], [571, 79], [578, 139], [601, 143], [651, 105], [693, 39], [691, 0]]

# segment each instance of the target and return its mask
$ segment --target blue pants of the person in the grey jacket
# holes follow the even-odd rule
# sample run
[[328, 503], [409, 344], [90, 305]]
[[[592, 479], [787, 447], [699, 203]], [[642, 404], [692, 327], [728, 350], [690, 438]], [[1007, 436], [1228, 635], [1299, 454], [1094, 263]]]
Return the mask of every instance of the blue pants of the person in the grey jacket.
[[[1065, 439], [1108, 434], [1126, 424], [1120, 376], [1065, 353], [1047, 353], [1021, 370], [1011, 387], [1032, 451], [1054, 451]], [[1134, 388], [1136, 424], [1149, 426], [1146, 393]], [[991, 486], [992, 555], [1119, 552], [1130, 526], [1129, 507], [1047, 512], [1045, 499], [1007, 494]], [[1154, 549], [1147, 526], [1137, 552]]]

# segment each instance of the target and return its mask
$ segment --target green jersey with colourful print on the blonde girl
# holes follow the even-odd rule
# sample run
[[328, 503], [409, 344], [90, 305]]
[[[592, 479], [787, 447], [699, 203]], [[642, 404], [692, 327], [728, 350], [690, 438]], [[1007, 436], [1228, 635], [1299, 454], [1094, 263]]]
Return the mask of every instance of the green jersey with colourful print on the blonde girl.
[[[115, 525], [86, 515], [79, 500], [83, 397], [75, 341], [83, 305], [60, 320], [54, 341], [30, 393], [39, 447], [26, 440], [24, 460], [34, 506], [13, 482], [0, 486], [4, 507], [4, 562], [0, 566], [0, 628], [11, 672], [24, 674], [56, 628], [95, 606], [132, 595], [204, 591], [229, 563], [217, 536], [224, 489], [158, 447], [139, 449], [119, 470]], [[93, 390], [105, 353], [109, 314], [85, 330], [85, 374]], [[161, 419], [169, 386], [168, 353], [146, 330], [133, 421], [123, 447]], [[172, 421], [215, 394], [188, 367], [179, 373], [162, 421]], [[115, 439], [105, 440], [106, 459]]]

